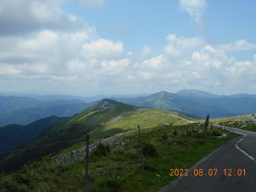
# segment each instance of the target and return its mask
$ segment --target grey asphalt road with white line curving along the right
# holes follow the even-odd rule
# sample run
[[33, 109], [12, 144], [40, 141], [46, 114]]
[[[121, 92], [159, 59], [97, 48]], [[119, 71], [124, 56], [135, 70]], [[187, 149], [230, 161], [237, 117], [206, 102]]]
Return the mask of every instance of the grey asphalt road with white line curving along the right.
[[[256, 191], [256, 133], [227, 129], [241, 136], [228, 141], [203, 159], [203, 163], [191, 168], [189, 176], [175, 180], [160, 191]], [[204, 170], [202, 177], [193, 175], [195, 168]], [[218, 169], [216, 176], [207, 175], [209, 169]], [[224, 169], [227, 169], [226, 175]], [[228, 169], [232, 170], [232, 176], [228, 176]], [[238, 169], [245, 169], [246, 175], [237, 176]]]

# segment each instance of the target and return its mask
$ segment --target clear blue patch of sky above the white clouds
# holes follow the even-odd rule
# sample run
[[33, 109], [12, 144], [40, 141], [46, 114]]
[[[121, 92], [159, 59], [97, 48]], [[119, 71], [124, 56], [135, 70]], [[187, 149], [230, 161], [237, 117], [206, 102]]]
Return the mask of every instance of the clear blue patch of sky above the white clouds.
[[161, 51], [169, 33], [204, 36], [214, 44], [227, 44], [244, 38], [256, 43], [256, 1], [206, 2], [202, 29], [180, 8], [179, 1], [109, 0], [97, 8], [86, 8], [72, 1], [65, 3], [63, 8], [95, 26], [104, 38], [122, 40], [127, 49], [135, 51], [140, 51], [145, 44]]

